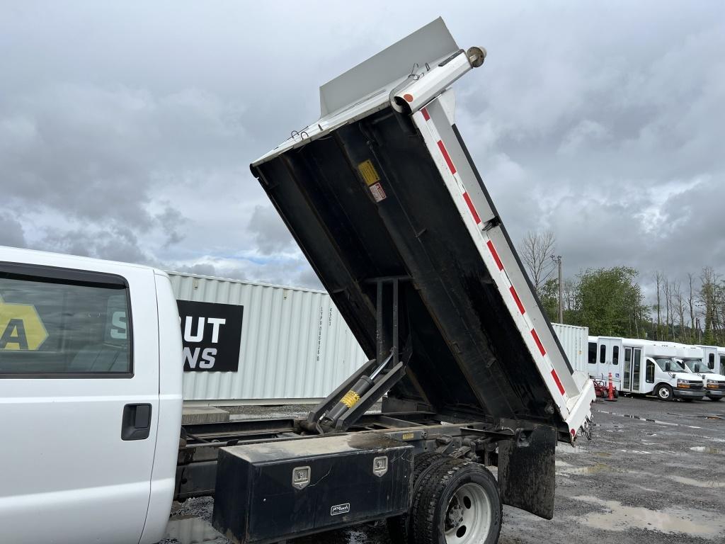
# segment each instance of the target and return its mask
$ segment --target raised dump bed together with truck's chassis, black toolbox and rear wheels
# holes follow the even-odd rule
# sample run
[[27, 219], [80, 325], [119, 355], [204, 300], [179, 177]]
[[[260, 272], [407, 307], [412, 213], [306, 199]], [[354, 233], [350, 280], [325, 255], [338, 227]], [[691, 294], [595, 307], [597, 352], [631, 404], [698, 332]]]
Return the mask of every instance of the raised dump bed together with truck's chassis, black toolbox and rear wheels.
[[494, 544], [502, 503], [553, 516], [555, 445], [587, 431], [594, 388], [455, 126], [448, 87], [483, 61], [434, 21], [252, 165], [370, 360], [307, 419], [187, 431], [177, 496], [213, 487], [233, 542], [387, 519], [396, 543]]

